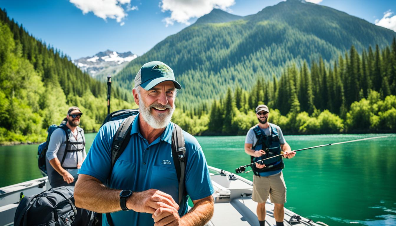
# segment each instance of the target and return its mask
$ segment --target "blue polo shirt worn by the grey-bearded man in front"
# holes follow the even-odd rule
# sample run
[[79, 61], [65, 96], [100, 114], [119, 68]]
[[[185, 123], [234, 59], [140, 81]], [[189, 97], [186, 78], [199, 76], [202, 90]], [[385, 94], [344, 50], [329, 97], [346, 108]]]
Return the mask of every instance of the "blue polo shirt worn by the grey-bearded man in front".
[[[107, 122], [99, 129], [86, 160], [78, 171], [99, 179], [106, 184], [111, 168], [111, 144], [113, 136], [123, 120]], [[172, 196], [179, 203], [179, 181], [171, 152], [173, 123], [151, 144], [139, 132], [139, 114], [132, 123], [131, 139], [126, 149], [116, 161], [111, 172], [110, 188], [141, 192], [154, 188]], [[202, 199], [213, 194], [208, 165], [198, 141], [183, 131], [186, 143], [187, 164], [185, 188], [192, 200]], [[188, 196], [183, 196], [179, 215], [187, 213]], [[152, 214], [135, 211], [111, 213], [114, 226], [153, 225]], [[105, 219], [105, 215], [103, 215]], [[107, 224], [103, 220], [103, 225]]]

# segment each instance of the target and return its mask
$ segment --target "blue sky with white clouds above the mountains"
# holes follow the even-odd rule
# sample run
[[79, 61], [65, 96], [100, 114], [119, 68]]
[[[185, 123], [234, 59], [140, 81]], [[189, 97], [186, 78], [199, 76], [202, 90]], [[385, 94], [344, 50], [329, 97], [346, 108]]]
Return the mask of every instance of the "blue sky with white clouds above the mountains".
[[[396, 31], [396, 0], [309, 0]], [[255, 14], [281, 0], [0, 0], [10, 18], [71, 59], [111, 49], [137, 55], [213, 8]], [[395, 13], [393, 13], [395, 12]]]

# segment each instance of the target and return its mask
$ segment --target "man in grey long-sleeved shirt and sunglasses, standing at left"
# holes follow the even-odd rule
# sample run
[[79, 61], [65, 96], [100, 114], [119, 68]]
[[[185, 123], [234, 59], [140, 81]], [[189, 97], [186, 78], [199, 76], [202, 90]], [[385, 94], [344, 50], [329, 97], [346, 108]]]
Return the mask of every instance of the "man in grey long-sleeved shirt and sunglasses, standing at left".
[[78, 125], [82, 112], [72, 106], [67, 111], [66, 124], [55, 129], [46, 153], [48, 180], [52, 188], [74, 186], [78, 169], [86, 157], [84, 130]]

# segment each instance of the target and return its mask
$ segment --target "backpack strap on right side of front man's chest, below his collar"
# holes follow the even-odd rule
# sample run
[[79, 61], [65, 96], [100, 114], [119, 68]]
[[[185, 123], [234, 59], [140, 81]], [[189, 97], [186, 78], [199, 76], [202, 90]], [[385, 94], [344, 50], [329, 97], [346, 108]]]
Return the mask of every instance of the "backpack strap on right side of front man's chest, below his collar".
[[186, 144], [184, 142], [183, 130], [179, 125], [173, 123], [172, 133], [172, 156], [175, 163], [177, 180], [179, 180], [179, 205], [183, 198], [184, 190], [184, 176], [186, 169]]

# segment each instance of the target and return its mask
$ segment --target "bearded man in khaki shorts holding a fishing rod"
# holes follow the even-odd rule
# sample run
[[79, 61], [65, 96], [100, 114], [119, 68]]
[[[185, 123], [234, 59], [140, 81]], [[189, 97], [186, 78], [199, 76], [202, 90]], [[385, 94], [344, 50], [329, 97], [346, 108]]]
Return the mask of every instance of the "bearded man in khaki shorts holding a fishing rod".
[[[251, 156], [251, 162], [264, 160], [285, 152], [284, 158], [293, 158], [289, 144], [283, 137], [278, 125], [268, 122], [269, 110], [264, 104], [257, 106], [256, 116], [259, 123], [249, 129], [245, 140], [245, 152]], [[260, 226], [265, 225], [265, 203], [268, 195], [274, 206], [276, 226], [283, 226], [284, 203], [286, 203], [286, 184], [282, 169], [282, 156], [261, 161], [251, 166], [253, 169], [253, 201], [257, 202], [257, 217]]]

